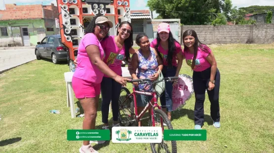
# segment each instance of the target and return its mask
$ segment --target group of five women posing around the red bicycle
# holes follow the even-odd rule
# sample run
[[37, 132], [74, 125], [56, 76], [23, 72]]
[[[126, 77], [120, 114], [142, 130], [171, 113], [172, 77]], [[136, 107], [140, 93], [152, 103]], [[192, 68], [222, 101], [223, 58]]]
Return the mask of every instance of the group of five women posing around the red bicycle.
[[[133, 29], [129, 22], [119, 24], [116, 36], [109, 36], [108, 31], [113, 23], [104, 16], [95, 16], [85, 29], [78, 47], [77, 68], [73, 75], [72, 86], [83, 111], [83, 129], [95, 129], [97, 108], [100, 92], [102, 94], [103, 129], [110, 129], [108, 115], [112, 101], [112, 126], [118, 123], [118, 98], [121, 86], [126, 86], [129, 79], [121, 76], [121, 63], [128, 61], [129, 71], [133, 79], [150, 78], [157, 80], [160, 71], [164, 77], [179, 76], [183, 59], [193, 70], [195, 91], [195, 129], [203, 125], [203, 102], [207, 90], [211, 102], [211, 118], [215, 127], [220, 127], [219, 87], [220, 73], [212, 51], [200, 43], [193, 30], [183, 34], [184, 50], [170, 31], [167, 23], [158, 26], [157, 38], [149, 41], [145, 33], [136, 36], [136, 44], [140, 47], [135, 51], [133, 46]], [[133, 54], [130, 58], [130, 54]], [[136, 69], [138, 69], [136, 73]], [[153, 87], [135, 83], [135, 89], [152, 92]], [[172, 83], [165, 84], [165, 92], [159, 97], [162, 110], [171, 120]], [[150, 96], [137, 95], [137, 107], [140, 112]], [[97, 141], [104, 143], [104, 141]], [[98, 153], [89, 141], [83, 141], [80, 153]]]

